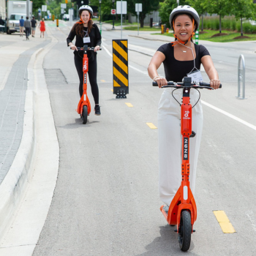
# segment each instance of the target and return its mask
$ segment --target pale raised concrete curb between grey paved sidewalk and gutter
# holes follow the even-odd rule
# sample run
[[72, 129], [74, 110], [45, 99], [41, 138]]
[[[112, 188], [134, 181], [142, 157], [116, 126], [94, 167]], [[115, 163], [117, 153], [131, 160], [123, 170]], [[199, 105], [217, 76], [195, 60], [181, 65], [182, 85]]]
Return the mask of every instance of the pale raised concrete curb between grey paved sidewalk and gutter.
[[[36, 59], [37, 54], [42, 49], [37, 50], [31, 60]], [[30, 80], [33, 80], [29, 76]], [[25, 113], [23, 121], [23, 135], [20, 142], [20, 147], [15, 156], [12, 166], [4, 177], [0, 185], [0, 238], [4, 234], [7, 225], [12, 219], [12, 214], [18, 207], [18, 204], [23, 197], [23, 191], [26, 184], [29, 182], [29, 173], [31, 162], [34, 157], [34, 149], [36, 147], [35, 129], [34, 129], [34, 93], [31, 89], [26, 91]]]

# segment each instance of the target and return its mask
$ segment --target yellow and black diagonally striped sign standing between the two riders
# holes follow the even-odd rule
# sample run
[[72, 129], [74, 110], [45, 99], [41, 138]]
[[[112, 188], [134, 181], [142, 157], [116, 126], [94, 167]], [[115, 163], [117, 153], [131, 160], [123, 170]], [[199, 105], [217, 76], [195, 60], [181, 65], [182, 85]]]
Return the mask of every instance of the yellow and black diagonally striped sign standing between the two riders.
[[128, 40], [113, 39], [113, 93], [117, 98], [129, 93]]

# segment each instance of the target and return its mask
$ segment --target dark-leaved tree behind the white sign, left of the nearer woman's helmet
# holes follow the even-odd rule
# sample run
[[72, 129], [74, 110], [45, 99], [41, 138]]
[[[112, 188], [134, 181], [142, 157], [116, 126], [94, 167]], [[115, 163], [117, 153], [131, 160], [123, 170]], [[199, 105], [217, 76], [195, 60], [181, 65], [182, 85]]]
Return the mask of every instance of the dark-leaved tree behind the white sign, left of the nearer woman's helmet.
[[143, 28], [144, 19], [146, 18], [146, 15], [158, 9], [159, 0], [129, 0], [127, 1], [128, 12], [134, 15], [137, 15], [137, 12], [135, 12], [135, 4], [137, 4], [138, 2], [142, 4], [142, 12], [140, 12], [139, 19], [140, 19], [140, 28]]

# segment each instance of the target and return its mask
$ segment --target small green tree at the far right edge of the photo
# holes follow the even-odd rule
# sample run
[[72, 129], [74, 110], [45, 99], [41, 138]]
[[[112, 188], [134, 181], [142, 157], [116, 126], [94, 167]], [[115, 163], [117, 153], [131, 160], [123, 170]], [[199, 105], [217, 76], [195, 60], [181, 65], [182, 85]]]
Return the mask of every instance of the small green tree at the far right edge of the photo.
[[241, 36], [243, 37], [243, 18], [253, 18], [256, 16], [256, 4], [252, 0], [233, 0], [231, 1], [231, 12], [236, 20], [241, 20]]

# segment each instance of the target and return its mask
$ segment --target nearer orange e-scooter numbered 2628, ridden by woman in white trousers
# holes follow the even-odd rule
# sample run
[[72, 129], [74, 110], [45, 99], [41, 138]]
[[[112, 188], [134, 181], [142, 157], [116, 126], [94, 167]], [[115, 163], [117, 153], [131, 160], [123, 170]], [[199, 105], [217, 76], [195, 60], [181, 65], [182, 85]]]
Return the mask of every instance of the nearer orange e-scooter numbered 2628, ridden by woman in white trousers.
[[[153, 82], [153, 86], [157, 86], [157, 82]], [[197, 219], [197, 206], [189, 187], [189, 138], [195, 137], [195, 132], [192, 131], [192, 108], [200, 99], [199, 96], [195, 105], [192, 106], [189, 94], [190, 89], [212, 88], [209, 83], [192, 83], [191, 78], [184, 78], [183, 82], [180, 83], [168, 82], [167, 86], [162, 86], [162, 88], [167, 87], [183, 89], [182, 104], [177, 101], [181, 105], [181, 186], [173, 197], [170, 207], [161, 206], [160, 211], [162, 211], [169, 225], [177, 225], [177, 229], [174, 231], [178, 233], [178, 244], [181, 251], [187, 252], [190, 246], [191, 234], [195, 232], [193, 225]], [[219, 88], [221, 87], [222, 85], [219, 86]]]

